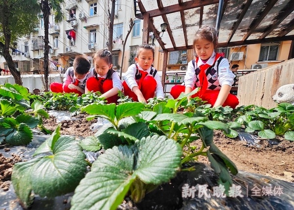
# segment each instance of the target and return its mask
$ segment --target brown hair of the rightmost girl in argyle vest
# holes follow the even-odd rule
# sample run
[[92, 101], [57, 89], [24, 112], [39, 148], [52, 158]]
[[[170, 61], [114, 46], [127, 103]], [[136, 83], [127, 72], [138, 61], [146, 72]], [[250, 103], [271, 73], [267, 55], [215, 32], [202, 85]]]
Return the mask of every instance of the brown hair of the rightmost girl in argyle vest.
[[212, 42], [215, 49], [218, 47], [218, 33], [217, 30], [212, 26], [204, 25], [197, 30], [193, 41], [194, 47], [196, 41], [198, 41], [199, 39], [206, 39]]

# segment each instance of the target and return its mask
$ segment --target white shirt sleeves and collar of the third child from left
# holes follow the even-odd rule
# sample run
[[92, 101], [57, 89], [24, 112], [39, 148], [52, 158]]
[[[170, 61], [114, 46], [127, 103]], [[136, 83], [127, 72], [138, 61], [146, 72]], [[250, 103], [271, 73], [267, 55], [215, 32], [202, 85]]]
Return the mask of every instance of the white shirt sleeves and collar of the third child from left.
[[[138, 69], [139, 70], [143, 70], [138, 64]], [[155, 70], [155, 68], [153, 68]], [[152, 74], [150, 74], [150, 70], [151, 70], [151, 67], [147, 70], [143, 70], [143, 71], [146, 71], [148, 72], [147, 76], [152, 76]], [[137, 67], [136, 67], [136, 64], [132, 64], [131, 66], [129, 66], [129, 68], [127, 69], [127, 71], [125, 72], [125, 75], [124, 75], [124, 81], [125, 83], [127, 84], [127, 86], [132, 90], [133, 87], [138, 87], [138, 84], [136, 82], [136, 72], [137, 72]], [[159, 74], [155, 74], [154, 75], [154, 79], [156, 81], [156, 97], [160, 97], [160, 98], [164, 98], [164, 93], [163, 93], [163, 87], [162, 87], [162, 84], [161, 84], [161, 80], [160, 80], [160, 76]]]

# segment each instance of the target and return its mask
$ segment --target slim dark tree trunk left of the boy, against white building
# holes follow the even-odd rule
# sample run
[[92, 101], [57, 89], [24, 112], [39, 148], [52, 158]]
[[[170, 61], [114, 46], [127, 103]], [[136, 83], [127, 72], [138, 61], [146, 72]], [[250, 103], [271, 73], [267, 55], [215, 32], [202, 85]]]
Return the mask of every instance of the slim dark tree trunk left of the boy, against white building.
[[45, 92], [49, 91], [48, 86], [48, 77], [49, 77], [49, 14], [50, 8], [48, 0], [42, 0], [41, 2], [41, 10], [43, 12], [44, 18], [44, 30], [45, 30], [45, 37], [44, 37], [44, 77], [45, 77]]

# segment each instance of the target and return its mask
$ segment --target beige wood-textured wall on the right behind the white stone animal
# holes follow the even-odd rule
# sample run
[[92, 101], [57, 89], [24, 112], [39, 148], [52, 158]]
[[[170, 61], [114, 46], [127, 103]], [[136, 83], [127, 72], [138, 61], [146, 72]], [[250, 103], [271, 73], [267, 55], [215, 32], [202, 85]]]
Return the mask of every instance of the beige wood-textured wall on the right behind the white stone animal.
[[240, 76], [239, 106], [255, 104], [271, 109], [276, 107], [272, 96], [283, 85], [294, 83], [294, 59]]

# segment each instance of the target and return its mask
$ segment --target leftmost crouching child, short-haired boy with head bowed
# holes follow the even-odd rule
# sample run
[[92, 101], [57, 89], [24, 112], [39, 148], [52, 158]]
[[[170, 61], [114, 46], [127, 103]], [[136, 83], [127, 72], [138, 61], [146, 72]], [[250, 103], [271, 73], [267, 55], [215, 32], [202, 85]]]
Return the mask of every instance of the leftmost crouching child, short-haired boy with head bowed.
[[73, 60], [73, 67], [65, 72], [63, 84], [53, 82], [50, 84], [50, 90], [54, 93], [85, 93], [86, 80], [91, 64], [87, 58], [78, 56]]

